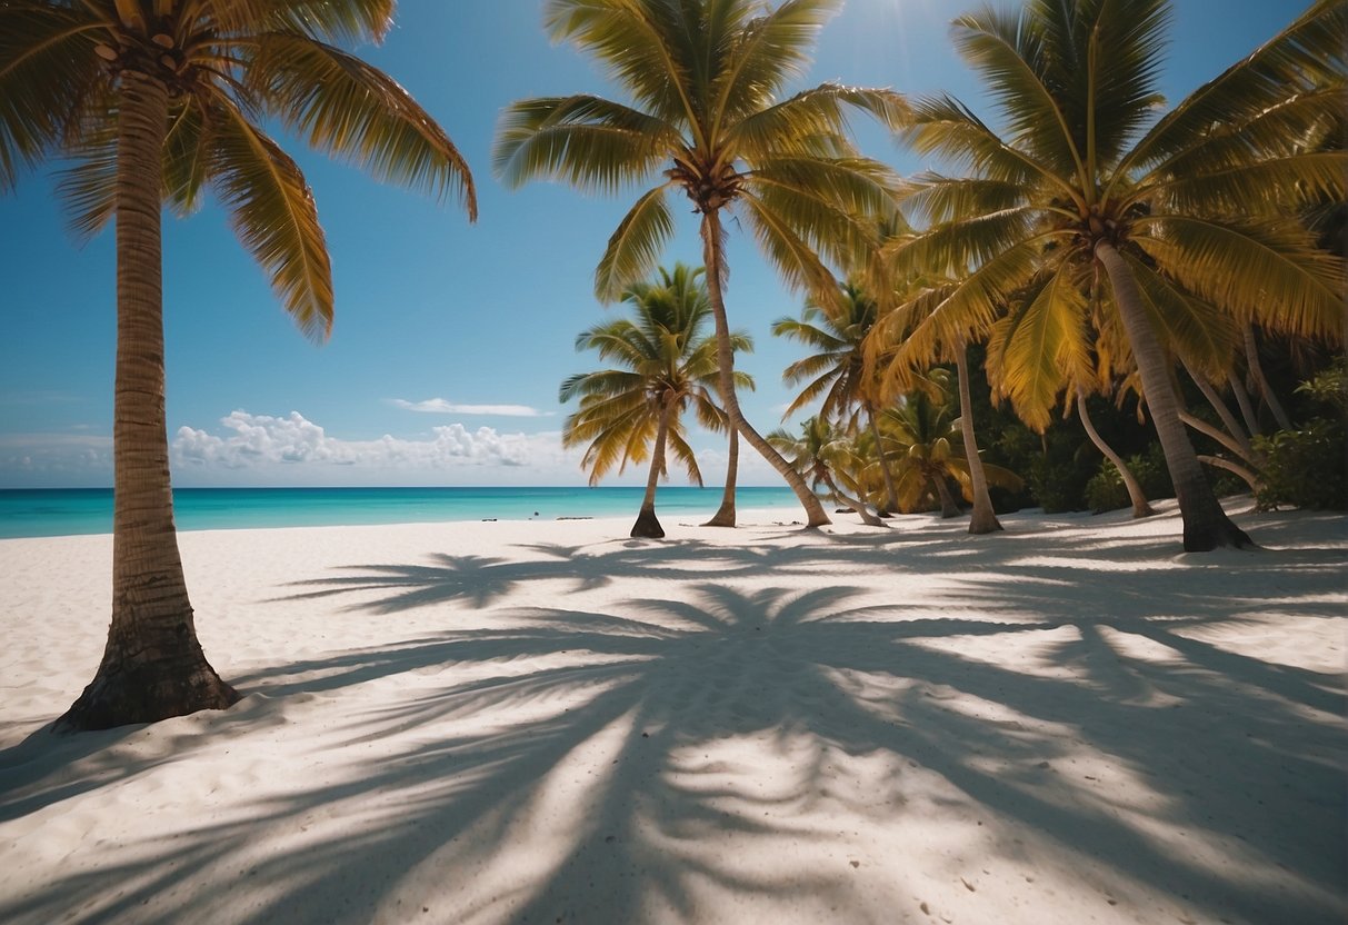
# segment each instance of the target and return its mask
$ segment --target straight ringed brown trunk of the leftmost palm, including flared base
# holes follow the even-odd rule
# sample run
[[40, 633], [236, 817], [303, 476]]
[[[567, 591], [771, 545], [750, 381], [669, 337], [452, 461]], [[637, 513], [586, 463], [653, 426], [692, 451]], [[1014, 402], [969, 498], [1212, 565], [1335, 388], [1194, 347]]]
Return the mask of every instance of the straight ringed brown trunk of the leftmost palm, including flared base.
[[58, 729], [154, 723], [224, 709], [239, 694], [197, 642], [168, 483], [159, 159], [168, 93], [124, 71], [117, 139], [117, 367], [112, 624], [93, 681]]

